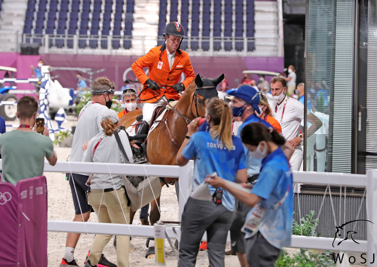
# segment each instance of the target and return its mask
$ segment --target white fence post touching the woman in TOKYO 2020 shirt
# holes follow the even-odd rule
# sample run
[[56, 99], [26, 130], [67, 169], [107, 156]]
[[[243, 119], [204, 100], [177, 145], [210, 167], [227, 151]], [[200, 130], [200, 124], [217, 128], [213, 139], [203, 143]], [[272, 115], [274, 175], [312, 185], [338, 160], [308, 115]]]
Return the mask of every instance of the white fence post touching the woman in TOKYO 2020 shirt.
[[179, 168], [179, 221], [182, 222], [182, 213], [185, 208], [186, 201], [190, 195], [192, 185], [194, 161], [190, 160], [188, 163]]

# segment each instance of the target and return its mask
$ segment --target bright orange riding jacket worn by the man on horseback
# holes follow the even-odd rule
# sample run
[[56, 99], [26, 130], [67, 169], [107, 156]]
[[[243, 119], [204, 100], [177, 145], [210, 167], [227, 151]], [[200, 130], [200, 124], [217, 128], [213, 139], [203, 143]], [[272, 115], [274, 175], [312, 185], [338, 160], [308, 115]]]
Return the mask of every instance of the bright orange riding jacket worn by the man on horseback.
[[[132, 64], [131, 67], [136, 77], [138, 77], [139, 81], [143, 85], [145, 84], [146, 80], [151, 79], [158, 84], [173, 86], [179, 82], [181, 74], [184, 72], [186, 74], [186, 80], [184, 80], [182, 83], [185, 85], [186, 89], [195, 78], [188, 53], [182, 50], [177, 50], [175, 53], [174, 63], [171, 66], [171, 69], [169, 69], [166, 49], [164, 49], [162, 53], [161, 49], [162, 45], [150, 49], [145, 56], [138, 58], [138, 60]], [[148, 67], [149, 76], [145, 75], [144, 71], [142, 70], [143, 67]], [[158, 91], [155, 92], [158, 93]], [[173, 98], [178, 100], [180, 97], [172, 87], [166, 87], [165, 91], [161, 89], [159, 95], [163, 96], [164, 93], [167, 99]], [[153, 103], [158, 100], [156, 94], [151, 89], [145, 89], [141, 93], [140, 100], [142, 101], [142, 99], [149, 99], [145, 101], [147, 103]]]

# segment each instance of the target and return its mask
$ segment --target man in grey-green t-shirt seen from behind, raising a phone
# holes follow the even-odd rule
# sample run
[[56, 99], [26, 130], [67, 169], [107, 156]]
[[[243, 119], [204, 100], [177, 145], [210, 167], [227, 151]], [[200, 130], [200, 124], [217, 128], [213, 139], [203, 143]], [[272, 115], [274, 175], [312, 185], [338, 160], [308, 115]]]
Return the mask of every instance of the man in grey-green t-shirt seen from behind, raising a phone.
[[46, 125], [43, 134], [33, 130], [37, 112], [37, 101], [31, 96], [23, 96], [17, 103], [16, 113], [20, 127], [0, 135], [2, 181], [16, 185], [21, 179], [41, 176], [45, 157], [50, 165], [55, 165], [57, 156]]

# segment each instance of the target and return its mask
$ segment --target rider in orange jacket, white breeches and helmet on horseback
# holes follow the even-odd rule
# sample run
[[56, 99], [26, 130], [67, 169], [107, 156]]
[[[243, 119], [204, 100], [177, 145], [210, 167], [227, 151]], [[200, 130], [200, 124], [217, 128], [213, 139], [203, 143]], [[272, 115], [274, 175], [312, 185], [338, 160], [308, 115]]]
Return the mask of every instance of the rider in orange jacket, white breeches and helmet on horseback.
[[[147, 133], [153, 111], [156, 107], [165, 105], [162, 98], [178, 100], [178, 93], [185, 90], [195, 78], [188, 53], [179, 49], [184, 36], [185, 30], [180, 23], [168, 23], [164, 29], [165, 44], [152, 48], [132, 64], [132, 70], [144, 85], [139, 99], [144, 102], [143, 121], [138, 134]], [[143, 67], [148, 67], [148, 76]], [[186, 79], [180, 83], [182, 72], [186, 74]], [[159, 89], [159, 86], [165, 89]]]

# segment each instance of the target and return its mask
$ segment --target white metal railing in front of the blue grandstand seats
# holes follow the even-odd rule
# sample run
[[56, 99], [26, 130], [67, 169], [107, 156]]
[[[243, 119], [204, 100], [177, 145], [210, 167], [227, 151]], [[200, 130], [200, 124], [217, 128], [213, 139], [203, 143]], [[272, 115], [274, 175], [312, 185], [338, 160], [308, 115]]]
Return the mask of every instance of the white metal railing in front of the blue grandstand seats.
[[[142, 55], [164, 43], [163, 37], [23, 34], [25, 44], [40, 44], [44, 53]], [[279, 38], [186, 37], [181, 48], [192, 56], [279, 56]], [[134, 45], [137, 44], [137, 45]]]

